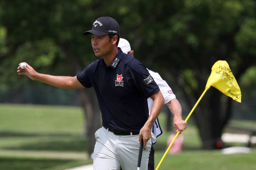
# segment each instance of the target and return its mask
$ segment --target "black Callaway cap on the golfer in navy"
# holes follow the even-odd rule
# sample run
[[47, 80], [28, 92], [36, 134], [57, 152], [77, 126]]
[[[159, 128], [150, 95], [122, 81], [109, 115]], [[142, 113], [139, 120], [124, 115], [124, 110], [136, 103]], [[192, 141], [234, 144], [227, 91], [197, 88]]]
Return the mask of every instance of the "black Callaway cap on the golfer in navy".
[[116, 20], [107, 16], [100, 17], [92, 24], [92, 29], [84, 32], [84, 35], [94, 34], [96, 36], [103, 36], [106, 34], [120, 35], [119, 25]]

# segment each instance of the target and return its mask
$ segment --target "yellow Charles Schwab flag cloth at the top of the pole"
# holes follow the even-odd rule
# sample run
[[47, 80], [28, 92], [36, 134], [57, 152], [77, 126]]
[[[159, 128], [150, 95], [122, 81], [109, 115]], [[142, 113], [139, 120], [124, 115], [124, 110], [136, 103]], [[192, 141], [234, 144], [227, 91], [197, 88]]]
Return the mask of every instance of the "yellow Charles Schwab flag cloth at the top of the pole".
[[219, 60], [214, 63], [206, 88], [209, 89], [210, 86], [241, 103], [241, 90], [226, 61]]

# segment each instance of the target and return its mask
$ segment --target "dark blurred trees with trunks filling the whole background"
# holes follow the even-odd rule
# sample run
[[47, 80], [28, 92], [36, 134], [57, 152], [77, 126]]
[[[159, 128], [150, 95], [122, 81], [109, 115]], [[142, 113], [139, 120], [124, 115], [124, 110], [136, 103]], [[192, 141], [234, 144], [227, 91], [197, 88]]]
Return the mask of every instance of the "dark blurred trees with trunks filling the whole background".
[[[135, 57], [157, 70], [191, 108], [214, 62], [226, 60], [237, 80], [255, 66], [254, 0], [4, 0], [0, 1], [0, 90], [22, 93], [21, 87], [44, 87], [16, 74], [23, 61], [41, 73], [76, 75], [97, 59], [90, 36], [82, 32], [101, 16], [118, 21], [121, 37], [130, 41]], [[85, 110], [91, 153], [93, 132], [100, 126], [97, 99], [92, 89], [75, 94]], [[193, 117], [203, 148], [217, 147], [232, 103], [214, 88], [199, 103]]]

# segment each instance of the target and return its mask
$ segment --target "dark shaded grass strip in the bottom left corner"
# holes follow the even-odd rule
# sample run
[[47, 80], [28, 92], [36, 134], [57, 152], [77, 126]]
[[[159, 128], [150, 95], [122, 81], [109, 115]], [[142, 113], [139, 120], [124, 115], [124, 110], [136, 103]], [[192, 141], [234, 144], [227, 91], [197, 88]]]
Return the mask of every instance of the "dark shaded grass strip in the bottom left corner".
[[48, 169], [59, 164], [65, 164], [74, 160], [58, 159], [24, 159], [24, 158], [0, 158], [1, 170], [38, 170]]

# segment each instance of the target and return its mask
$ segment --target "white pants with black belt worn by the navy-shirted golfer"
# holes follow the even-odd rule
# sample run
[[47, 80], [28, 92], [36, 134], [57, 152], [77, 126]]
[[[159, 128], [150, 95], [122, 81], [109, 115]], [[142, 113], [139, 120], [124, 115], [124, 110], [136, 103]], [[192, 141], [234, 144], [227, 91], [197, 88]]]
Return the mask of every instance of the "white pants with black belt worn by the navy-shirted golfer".
[[[137, 170], [139, 135], [115, 135], [105, 128], [95, 132], [94, 170]], [[151, 139], [142, 152], [140, 170], [148, 170]]]

